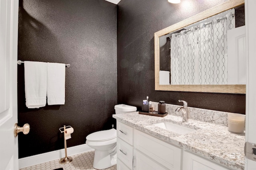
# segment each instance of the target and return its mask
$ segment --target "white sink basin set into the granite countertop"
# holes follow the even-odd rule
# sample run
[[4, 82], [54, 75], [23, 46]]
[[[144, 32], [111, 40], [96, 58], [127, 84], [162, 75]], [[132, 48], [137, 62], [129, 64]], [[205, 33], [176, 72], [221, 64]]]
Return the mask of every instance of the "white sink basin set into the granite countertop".
[[166, 129], [168, 131], [172, 131], [174, 133], [178, 133], [180, 135], [184, 135], [186, 133], [190, 133], [192, 131], [195, 131], [195, 129], [190, 129], [188, 127], [184, 127], [184, 126], [177, 125], [177, 124], [174, 124], [174, 123], [170, 123], [170, 122], [167, 122], [167, 121], [160, 122], [160, 123], [154, 123], [153, 125], [155, 125], [157, 127], [160, 127], [160, 128], [163, 128], [163, 129]]

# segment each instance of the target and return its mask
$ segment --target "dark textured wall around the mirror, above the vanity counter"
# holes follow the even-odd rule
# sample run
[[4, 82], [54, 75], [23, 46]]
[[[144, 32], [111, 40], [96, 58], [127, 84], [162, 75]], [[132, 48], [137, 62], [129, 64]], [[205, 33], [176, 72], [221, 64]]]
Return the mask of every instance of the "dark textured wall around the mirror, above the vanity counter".
[[[223, 3], [224, 0], [121, 0], [118, 3], [118, 103], [141, 109], [142, 100], [164, 100], [188, 106], [245, 113], [244, 94], [168, 92], [154, 90], [154, 33], [190, 16]], [[181, 105], [181, 104], [179, 104]]]

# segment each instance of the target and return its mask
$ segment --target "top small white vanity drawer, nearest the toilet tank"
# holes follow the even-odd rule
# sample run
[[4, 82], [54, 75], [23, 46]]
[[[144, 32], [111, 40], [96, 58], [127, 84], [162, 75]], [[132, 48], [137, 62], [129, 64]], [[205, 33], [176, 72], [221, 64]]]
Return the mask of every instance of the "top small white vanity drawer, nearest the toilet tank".
[[116, 122], [117, 136], [133, 145], [133, 128], [121, 122]]

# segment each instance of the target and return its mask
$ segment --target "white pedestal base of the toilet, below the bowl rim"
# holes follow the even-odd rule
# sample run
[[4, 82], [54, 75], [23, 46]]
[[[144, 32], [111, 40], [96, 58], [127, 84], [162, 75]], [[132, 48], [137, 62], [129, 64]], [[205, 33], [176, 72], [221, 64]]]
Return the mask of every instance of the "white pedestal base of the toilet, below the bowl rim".
[[106, 150], [96, 150], [94, 152], [93, 168], [95, 169], [106, 169], [116, 165], [116, 152], [109, 154]]

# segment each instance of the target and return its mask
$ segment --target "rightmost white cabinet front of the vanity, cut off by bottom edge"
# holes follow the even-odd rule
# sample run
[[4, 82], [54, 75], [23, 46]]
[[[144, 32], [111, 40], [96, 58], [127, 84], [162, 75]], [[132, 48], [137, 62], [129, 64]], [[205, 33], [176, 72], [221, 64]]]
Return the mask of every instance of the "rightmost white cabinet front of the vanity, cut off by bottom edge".
[[183, 152], [182, 162], [182, 170], [228, 170], [187, 151]]

